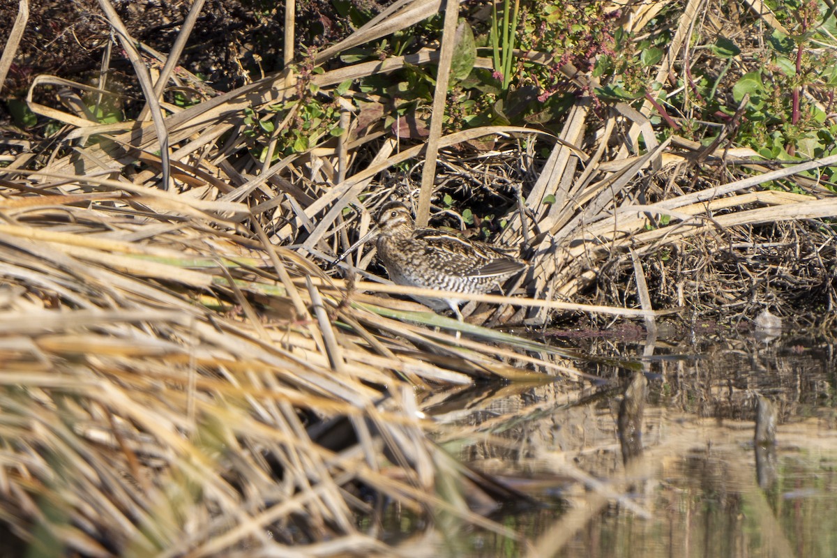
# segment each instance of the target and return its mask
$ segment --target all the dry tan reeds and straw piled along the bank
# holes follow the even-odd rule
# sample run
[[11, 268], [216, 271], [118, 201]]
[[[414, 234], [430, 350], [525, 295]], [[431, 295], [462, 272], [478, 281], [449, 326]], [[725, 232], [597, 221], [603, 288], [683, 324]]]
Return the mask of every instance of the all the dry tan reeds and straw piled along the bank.
[[[531, 147], [534, 131], [495, 126], [443, 136], [431, 126], [427, 143], [402, 147], [373, 130], [278, 162], [271, 144], [259, 161], [243, 133], [244, 110], [280, 130], [292, 118], [270, 106], [290, 98], [300, 79], [331, 95], [347, 79], [404, 64], [440, 59], [444, 68], [447, 54], [336, 64], [301, 77], [289, 70], [181, 110], [159, 94], [182, 44], [152, 79], [110, 4], [100, 4], [135, 64], [147, 110], [136, 121], [100, 125], [72, 102], [73, 91], [104, 90], [51, 76], [30, 90], [31, 109], [67, 128], [60, 149], [35, 146], [14, 157], [0, 183], [0, 521], [27, 543], [85, 555], [390, 555], [376, 530], [357, 522], [386, 498], [502, 530], [460, 500], [434, 495], [449, 463], [426, 438], [429, 423], [412, 390], [573, 370], [547, 347], [380, 295], [421, 289], [357, 275], [344, 282], [320, 264], [347, 247], [348, 231], [363, 233], [398, 189], [373, 182], [383, 171], [425, 160], [417, 190], [419, 219], [427, 218], [437, 168], [488, 180], [505, 171], [480, 161], [519, 153], [506, 143], [454, 161], [447, 147], [486, 135], [521, 137]], [[439, 4], [393, 3], [316, 62], [422, 21]], [[184, 38], [189, 29], [187, 19]], [[666, 60], [676, 59], [688, 29], [681, 26]], [[6, 51], [13, 50], [10, 41]], [[36, 102], [44, 85], [69, 87], [67, 105], [79, 110]], [[837, 157], [645, 201], [631, 188], [638, 177], [686, 165], [688, 154], [666, 160], [670, 141], [660, 144], [647, 115], [627, 106], [617, 105], [597, 130], [591, 114], [579, 99], [546, 160], [523, 158], [521, 174], [508, 176], [528, 177], [512, 187], [527, 209], [509, 213], [499, 241], [523, 245], [533, 266], [517, 285], [525, 298], [470, 297], [491, 303], [480, 320], [543, 324], [554, 310], [650, 320], [645, 254], [706, 233], [837, 213], [830, 197], [753, 188]], [[347, 109], [350, 132], [353, 118]], [[627, 145], [614, 147], [619, 131], [633, 140], [642, 134], [648, 151], [625, 158]], [[664, 215], [671, 224], [655, 221]], [[615, 253], [632, 258], [641, 309], [566, 302]], [[367, 254], [358, 267], [370, 261]], [[497, 303], [516, 315], [495, 315]], [[452, 329], [466, 335], [456, 340]], [[348, 421], [349, 443], [325, 443], [312, 430], [331, 419]], [[372, 499], [363, 499], [363, 487]]]

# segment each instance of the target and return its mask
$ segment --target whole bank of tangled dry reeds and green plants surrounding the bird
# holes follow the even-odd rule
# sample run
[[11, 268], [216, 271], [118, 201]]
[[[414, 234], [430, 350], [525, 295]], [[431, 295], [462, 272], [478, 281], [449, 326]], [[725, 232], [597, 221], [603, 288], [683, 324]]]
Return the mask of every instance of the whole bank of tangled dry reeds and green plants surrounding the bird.
[[[74, 0], [46, 47], [28, 21], [49, 14], [6, 18], [15, 551], [408, 555], [377, 529], [393, 502], [520, 539], [460, 492], [526, 497], [435, 445], [422, 394], [572, 389], [584, 357], [496, 326], [766, 307], [832, 326], [833, 8], [173, 4]], [[44, 64], [53, 47], [83, 53]], [[367, 249], [328, 269], [393, 196], [531, 268], [468, 296], [465, 323]]]

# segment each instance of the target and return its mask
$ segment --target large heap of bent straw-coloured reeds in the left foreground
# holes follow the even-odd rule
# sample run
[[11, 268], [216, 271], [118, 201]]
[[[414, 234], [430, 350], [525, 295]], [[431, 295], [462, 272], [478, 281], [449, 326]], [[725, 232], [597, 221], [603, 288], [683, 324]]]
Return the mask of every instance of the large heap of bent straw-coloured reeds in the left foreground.
[[[26, 174], [31, 183], [47, 178]], [[33, 187], [7, 192], [5, 211], [13, 224], [3, 225], [0, 238], [0, 273], [23, 289], [6, 303], [0, 338], [33, 340], [28, 348], [0, 345], [6, 362], [0, 374], [4, 438], [39, 445], [34, 454], [43, 460], [22, 473], [6, 469], [6, 482], [38, 499], [55, 489], [43, 475], [45, 463], [64, 463], [69, 484], [61, 490], [85, 490], [86, 520], [96, 527], [85, 539], [62, 530], [60, 521], [49, 523], [61, 544], [94, 555], [96, 545], [105, 551], [192, 548], [208, 554], [263, 545], [265, 552], [280, 552], [287, 545], [261, 533], [303, 511], [315, 523], [334, 525], [332, 535], [346, 540], [357, 535], [347, 523], [348, 511], [342, 520], [335, 514], [354, 501], [341, 486], [371, 484], [405, 502], [426, 494], [433, 478], [427, 463], [438, 449], [427, 444], [414, 422], [409, 426], [391, 411], [374, 412], [386, 417], [378, 421], [378, 430], [385, 426], [388, 432], [385, 443], [412, 448], [400, 466], [425, 463], [418, 476], [400, 481], [350, 467], [316, 441], [300, 438], [300, 423], [289, 422], [286, 411], [307, 409], [323, 421], [343, 414], [362, 417], [373, 412], [378, 393], [363, 382], [467, 381], [460, 371], [473, 369], [465, 365], [468, 356], [454, 352], [434, 366], [421, 363], [408, 340], [384, 333], [398, 331], [398, 321], [378, 317], [388, 325], [370, 328], [366, 312], [342, 305], [346, 294], [331, 288], [324, 276], [315, 286], [312, 275], [321, 272], [306, 259], [279, 247], [265, 257], [258, 248], [266, 237], [261, 244], [249, 242], [223, 219], [210, 221], [226, 232], [208, 236], [212, 229], [202, 224], [208, 217], [204, 211], [238, 210], [237, 204], [119, 181], [84, 182], [104, 192], [59, 194], [49, 187], [42, 193], [32, 193]], [[111, 188], [143, 195], [114, 196]], [[176, 218], [177, 227], [160, 229], [136, 202], [156, 205], [157, 218]], [[185, 207], [193, 209], [182, 211]], [[78, 220], [66, 228], [56, 208]], [[25, 222], [14, 220], [23, 216]], [[121, 239], [123, 231], [136, 240]], [[45, 305], [41, 289], [51, 290], [63, 310]], [[189, 301], [201, 299], [198, 295], [220, 311]], [[258, 308], [259, 323], [223, 310], [236, 300]], [[67, 304], [88, 310], [69, 311]], [[314, 324], [307, 323], [309, 308]], [[348, 319], [338, 319], [335, 327], [331, 320], [338, 312]], [[311, 328], [323, 334], [323, 346]], [[501, 369], [505, 365], [499, 359], [482, 355], [480, 366]], [[23, 397], [27, 405], [16, 395], [21, 389], [28, 394]], [[27, 426], [31, 413], [37, 413], [40, 426]], [[375, 439], [381, 435], [373, 434]], [[373, 438], [365, 436], [368, 446]], [[238, 448], [239, 457], [218, 448]], [[365, 453], [367, 459], [381, 458], [371, 447]], [[306, 475], [311, 470], [319, 471], [316, 479]], [[358, 473], [347, 475], [347, 470]], [[115, 476], [116, 471], [125, 476]], [[24, 483], [27, 478], [35, 480]], [[303, 479], [309, 488], [300, 488]], [[190, 483], [202, 487], [200, 498], [184, 497]], [[92, 489], [100, 484], [109, 488]], [[19, 501], [14, 497], [7, 503]], [[285, 504], [269, 505], [271, 513], [262, 514], [270, 502]], [[62, 505], [72, 509], [69, 502]], [[216, 513], [208, 513], [206, 505]], [[214, 542], [202, 547], [197, 539], [182, 540], [187, 517], [197, 532], [212, 533]], [[28, 530], [32, 520], [23, 514], [15, 521]]]

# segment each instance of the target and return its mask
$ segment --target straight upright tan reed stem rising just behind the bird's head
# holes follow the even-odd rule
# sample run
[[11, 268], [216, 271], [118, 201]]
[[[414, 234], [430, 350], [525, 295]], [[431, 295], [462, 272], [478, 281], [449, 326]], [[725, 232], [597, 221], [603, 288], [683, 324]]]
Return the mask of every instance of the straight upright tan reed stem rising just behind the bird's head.
[[444, 101], [448, 98], [450, 80], [450, 62], [454, 58], [456, 43], [456, 25], [460, 15], [458, 0], [446, 0], [444, 4], [444, 29], [442, 30], [441, 57], [439, 73], [436, 75], [436, 90], [433, 95], [433, 113], [430, 116], [430, 136], [427, 138], [427, 152], [424, 158], [424, 171], [421, 175], [419, 207], [416, 209], [416, 225], [424, 227], [430, 217], [430, 194], [436, 178], [436, 156], [439, 153], [439, 138], [442, 136], [444, 120]]

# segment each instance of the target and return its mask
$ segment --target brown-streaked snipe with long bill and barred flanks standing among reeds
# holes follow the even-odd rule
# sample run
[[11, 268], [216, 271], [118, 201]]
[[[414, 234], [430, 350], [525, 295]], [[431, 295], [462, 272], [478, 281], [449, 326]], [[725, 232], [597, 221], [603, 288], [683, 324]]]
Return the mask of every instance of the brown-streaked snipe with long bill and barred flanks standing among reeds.
[[[347, 253], [377, 234], [377, 257], [395, 284], [481, 294], [500, 287], [527, 267], [490, 244], [435, 228], [415, 228], [410, 210], [402, 202], [385, 203], [376, 223], [377, 228]], [[463, 320], [459, 308], [463, 299], [414, 298], [434, 310], [450, 308]]]

